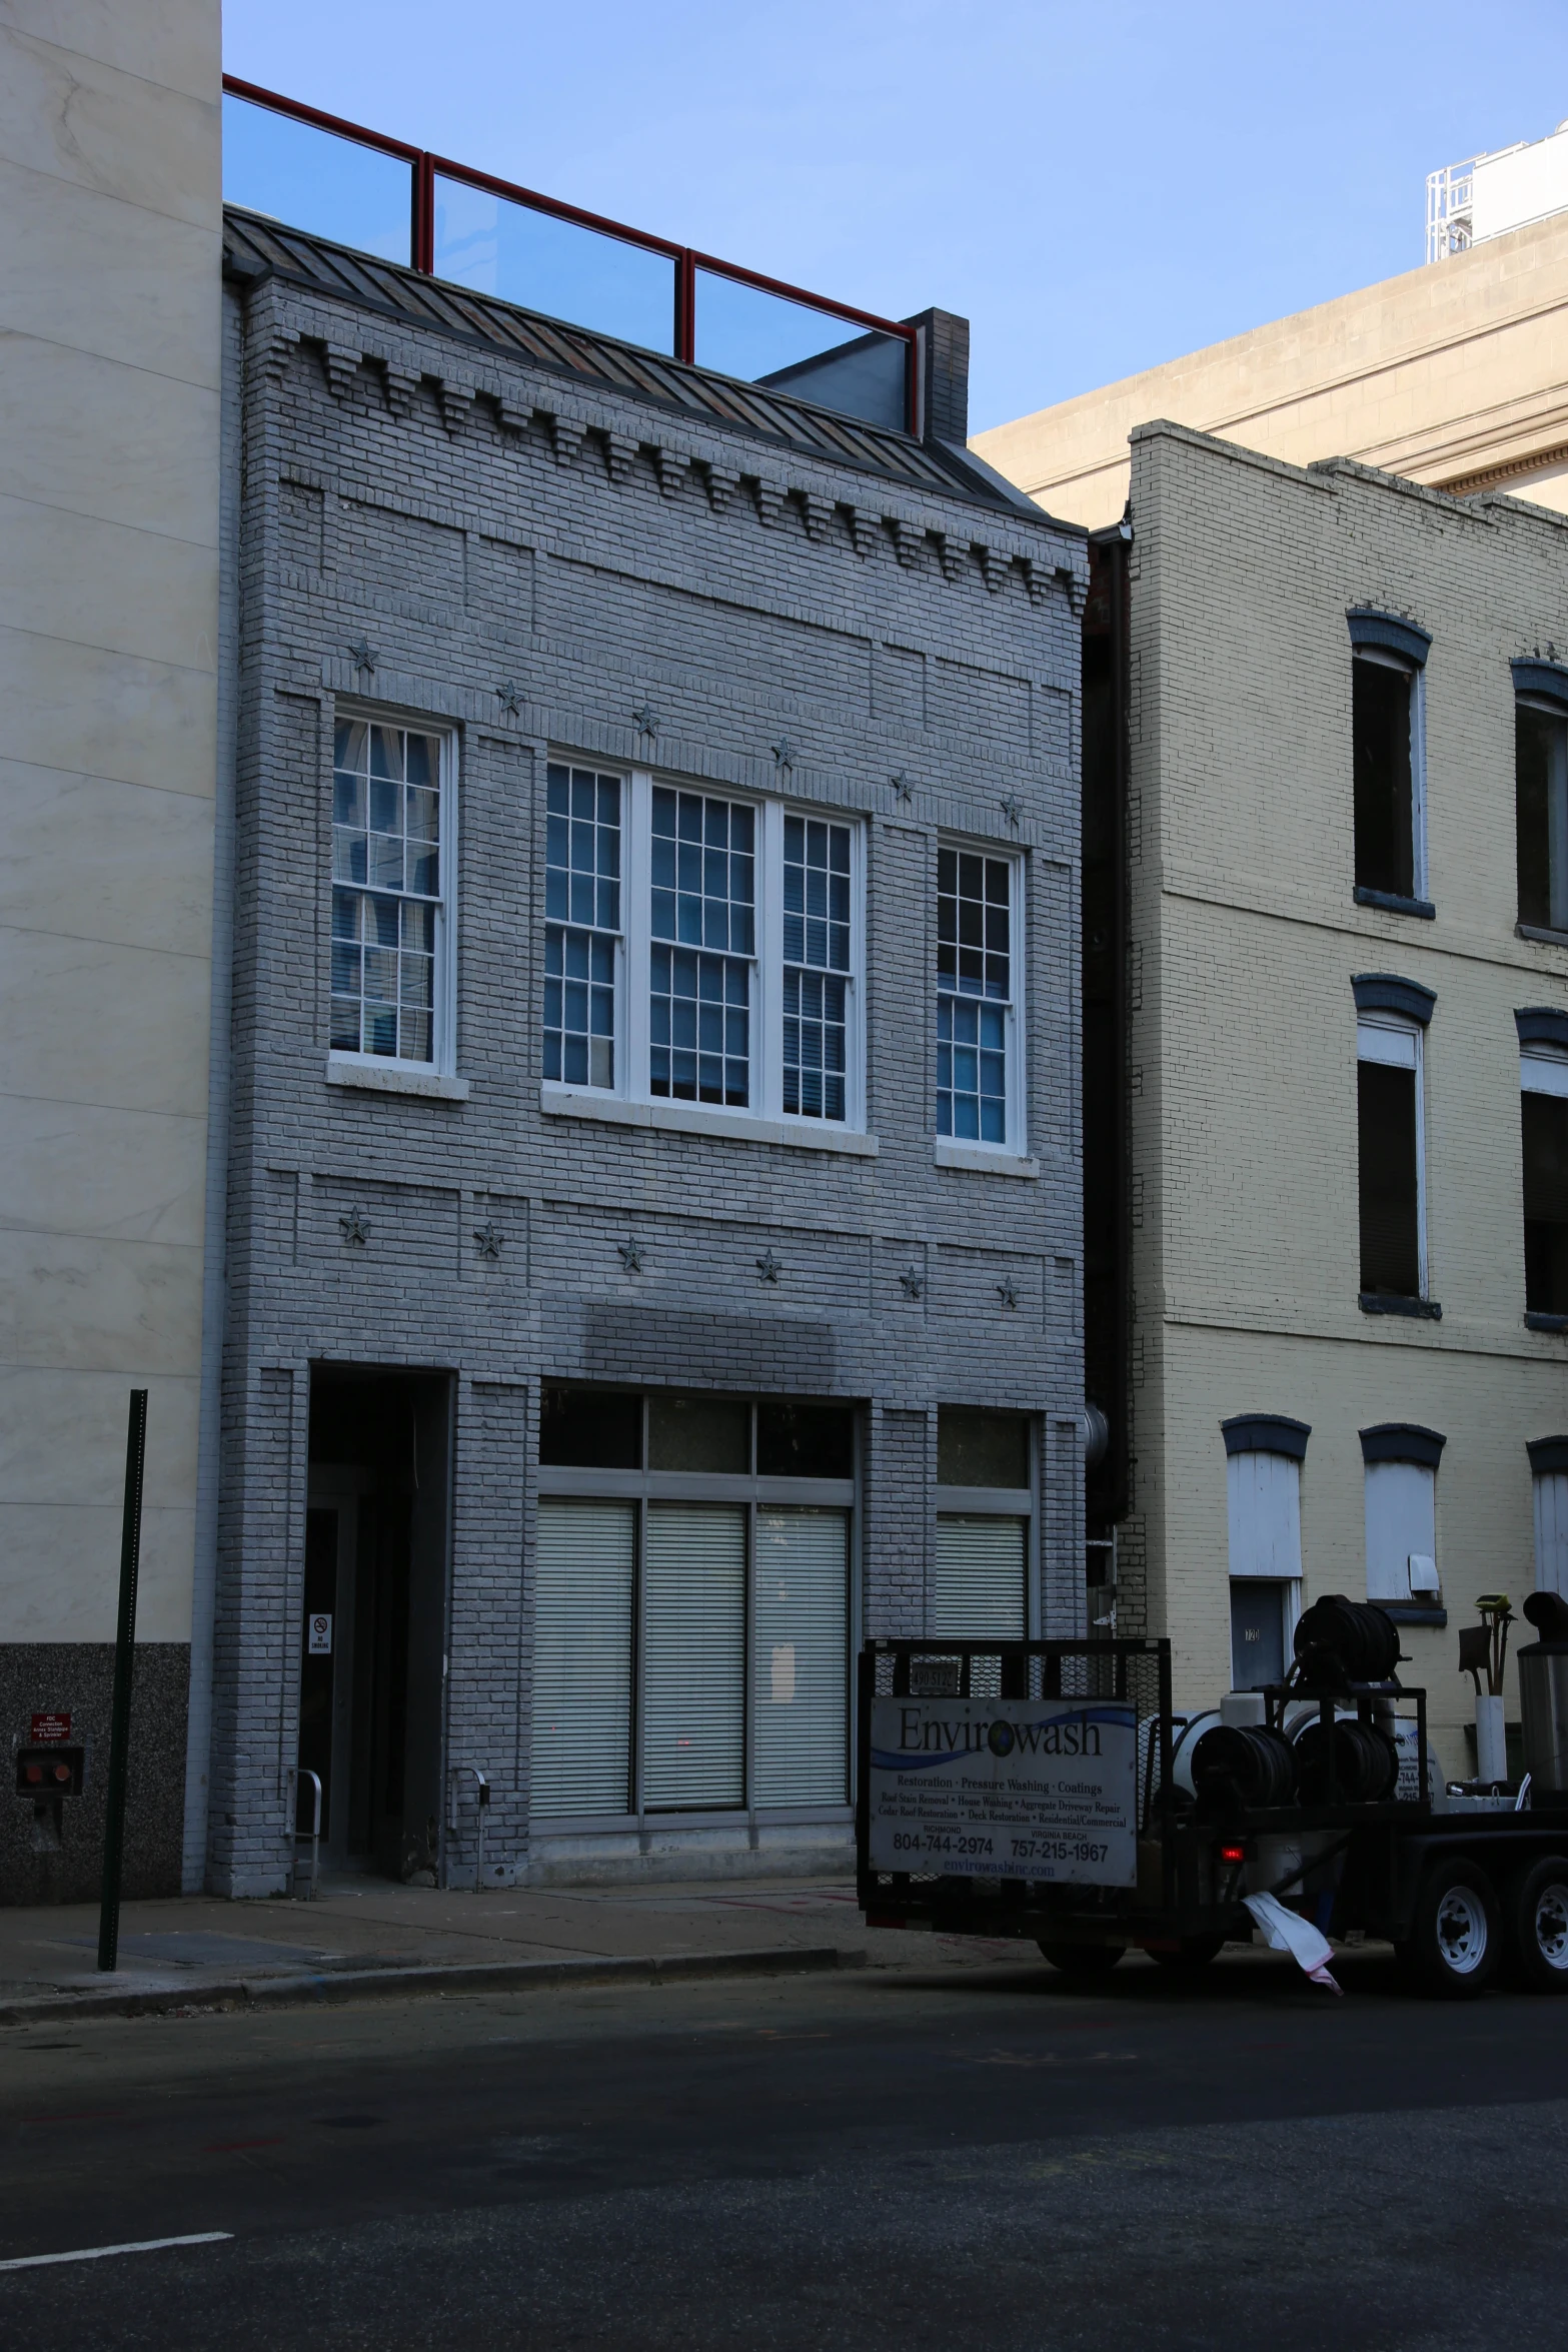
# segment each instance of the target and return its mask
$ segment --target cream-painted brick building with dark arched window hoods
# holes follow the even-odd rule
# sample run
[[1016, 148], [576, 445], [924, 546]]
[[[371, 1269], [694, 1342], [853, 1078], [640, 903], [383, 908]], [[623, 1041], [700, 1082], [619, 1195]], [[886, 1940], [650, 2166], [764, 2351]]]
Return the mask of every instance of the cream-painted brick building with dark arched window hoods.
[[[1150, 423], [1131, 442], [1131, 527], [1098, 581], [1105, 609], [1126, 564], [1121, 1630], [1168, 1630], [1178, 1698], [1211, 1705], [1269, 1581], [1286, 1639], [1321, 1592], [1394, 1597], [1455, 1773], [1472, 1703], [1453, 1628], [1479, 1592], [1519, 1604], [1563, 1573], [1568, 1449], [1528, 1444], [1568, 1430], [1568, 1317], [1526, 1310], [1521, 1080], [1559, 1098], [1542, 1112], [1556, 1134], [1568, 931], [1521, 927], [1516, 703], [1540, 706], [1542, 741], [1561, 736], [1568, 520]], [[1356, 887], [1371, 818], [1352, 739], [1378, 708], [1352, 710], [1361, 689], [1410, 703], [1406, 894]], [[1526, 863], [1535, 849], [1530, 830]], [[1093, 920], [1086, 938], [1093, 955]], [[1375, 1073], [1418, 1063], [1410, 1089], [1387, 1068], [1366, 1080], [1368, 1056]], [[1366, 1249], [1387, 1237], [1363, 1237], [1359, 1211], [1380, 1218], [1394, 1178], [1368, 1160], [1359, 1192], [1359, 1167], [1385, 1148], [1387, 1087], [1415, 1096], [1422, 1265], [1368, 1291]], [[1222, 1423], [1244, 1425], [1227, 1439]], [[1420, 1566], [1408, 1588], [1410, 1557], [1436, 1559], [1436, 1590]]]

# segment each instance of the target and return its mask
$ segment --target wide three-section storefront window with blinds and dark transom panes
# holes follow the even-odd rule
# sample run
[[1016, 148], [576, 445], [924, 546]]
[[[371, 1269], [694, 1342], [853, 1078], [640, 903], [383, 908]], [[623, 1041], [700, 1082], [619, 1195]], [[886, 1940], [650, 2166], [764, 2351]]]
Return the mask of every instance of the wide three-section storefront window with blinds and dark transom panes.
[[853, 1423], [545, 1390], [536, 1823], [846, 1804]]

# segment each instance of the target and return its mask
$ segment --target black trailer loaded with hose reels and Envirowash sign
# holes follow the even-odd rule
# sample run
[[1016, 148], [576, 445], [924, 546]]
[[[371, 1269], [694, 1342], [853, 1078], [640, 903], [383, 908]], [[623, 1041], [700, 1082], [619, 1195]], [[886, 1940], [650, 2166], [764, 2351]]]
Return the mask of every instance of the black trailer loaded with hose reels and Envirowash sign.
[[1399, 1628], [1338, 1595], [1300, 1618], [1286, 1682], [1201, 1715], [1173, 1712], [1164, 1639], [867, 1642], [867, 1926], [1037, 1943], [1081, 1983], [1131, 1947], [1180, 1980], [1305, 1926], [1392, 1943], [1434, 1994], [1500, 1966], [1568, 1992], [1568, 1604], [1526, 1616], [1528, 1773], [1488, 1792], [1443, 1783]]

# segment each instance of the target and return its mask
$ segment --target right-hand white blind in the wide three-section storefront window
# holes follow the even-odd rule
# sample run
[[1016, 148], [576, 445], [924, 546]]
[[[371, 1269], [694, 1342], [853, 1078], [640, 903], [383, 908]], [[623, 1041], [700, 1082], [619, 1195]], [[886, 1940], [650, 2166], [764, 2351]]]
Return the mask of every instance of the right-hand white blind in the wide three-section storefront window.
[[849, 1512], [759, 1510], [752, 1632], [757, 1804], [849, 1795]]

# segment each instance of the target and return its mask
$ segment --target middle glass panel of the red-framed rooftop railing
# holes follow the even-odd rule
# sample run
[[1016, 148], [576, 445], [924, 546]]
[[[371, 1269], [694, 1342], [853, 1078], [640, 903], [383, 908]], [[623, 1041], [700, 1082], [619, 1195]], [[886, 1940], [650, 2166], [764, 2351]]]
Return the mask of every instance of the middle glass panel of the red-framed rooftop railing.
[[435, 174], [435, 275], [569, 327], [675, 350], [675, 259]]

